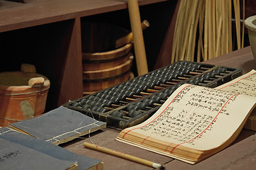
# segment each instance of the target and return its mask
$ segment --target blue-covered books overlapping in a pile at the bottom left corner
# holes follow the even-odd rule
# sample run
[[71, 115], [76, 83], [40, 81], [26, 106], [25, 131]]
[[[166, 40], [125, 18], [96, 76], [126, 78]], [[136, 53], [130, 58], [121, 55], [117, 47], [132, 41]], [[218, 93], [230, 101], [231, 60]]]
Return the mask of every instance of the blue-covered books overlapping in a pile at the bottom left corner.
[[20, 132], [0, 129], [0, 169], [103, 169], [100, 159], [75, 154]]

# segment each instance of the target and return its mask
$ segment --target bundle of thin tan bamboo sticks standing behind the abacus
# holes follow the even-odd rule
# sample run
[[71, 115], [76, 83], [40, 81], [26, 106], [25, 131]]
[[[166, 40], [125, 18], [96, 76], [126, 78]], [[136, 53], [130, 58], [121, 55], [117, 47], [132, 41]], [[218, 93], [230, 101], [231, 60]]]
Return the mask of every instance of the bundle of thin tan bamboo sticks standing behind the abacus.
[[[239, 0], [181, 0], [174, 30], [171, 62], [179, 60], [201, 62], [231, 52], [233, 50], [232, 5], [235, 11], [236, 41], [239, 49], [244, 43], [244, 30], [242, 30], [242, 42], [240, 37]], [[196, 42], [197, 50], [195, 50]]]

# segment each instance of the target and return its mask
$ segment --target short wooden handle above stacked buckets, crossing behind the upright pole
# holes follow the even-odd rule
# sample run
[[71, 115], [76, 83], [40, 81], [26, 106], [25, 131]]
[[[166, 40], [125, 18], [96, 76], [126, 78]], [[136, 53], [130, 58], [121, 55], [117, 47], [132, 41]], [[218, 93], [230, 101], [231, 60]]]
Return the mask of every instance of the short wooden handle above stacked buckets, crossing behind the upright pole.
[[[142, 30], [145, 30], [146, 28], [149, 27], [149, 21], [142, 21]], [[115, 45], [116, 47], [122, 47], [130, 42], [132, 42], [133, 40], [133, 35], [132, 35], [132, 32], [127, 34], [127, 35], [124, 35], [122, 38], [119, 38], [118, 40], [116, 40], [115, 42]]]

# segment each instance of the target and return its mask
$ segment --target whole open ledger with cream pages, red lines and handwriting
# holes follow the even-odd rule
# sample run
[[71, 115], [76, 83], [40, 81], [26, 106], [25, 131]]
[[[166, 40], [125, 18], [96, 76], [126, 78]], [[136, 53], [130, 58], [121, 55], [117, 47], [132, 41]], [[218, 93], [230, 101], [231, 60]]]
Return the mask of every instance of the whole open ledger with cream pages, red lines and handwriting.
[[195, 164], [238, 137], [255, 94], [255, 70], [216, 89], [183, 84], [151, 118], [122, 130], [116, 140]]

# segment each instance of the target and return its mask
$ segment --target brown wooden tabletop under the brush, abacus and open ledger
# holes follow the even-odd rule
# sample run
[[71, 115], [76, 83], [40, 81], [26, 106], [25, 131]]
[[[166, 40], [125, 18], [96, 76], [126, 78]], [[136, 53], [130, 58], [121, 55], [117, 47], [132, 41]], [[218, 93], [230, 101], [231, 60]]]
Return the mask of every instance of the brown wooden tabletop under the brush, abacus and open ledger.
[[[213, 60], [208, 60], [206, 63], [218, 64], [226, 67], [241, 68], [244, 73], [251, 69], [256, 69], [256, 62], [252, 57], [250, 47], [245, 47], [242, 50], [231, 52], [227, 55], [216, 57]], [[166, 169], [255, 169], [256, 167], [256, 135], [255, 132], [250, 130], [242, 130], [238, 138], [233, 142], [230, 147], [221, 152], [209, 157], [208, 159], [199, 162], [198, 164], [191, 165], [184, 162], [165, 157], [160, 154], [146, 151], [137, 147], [126, 145], [122, 142], [115, 141], [119, 130], [112, 128], [105, 128], [102, 131], [90, 134], [89, 137], [85, 136], [82, 139], [77, 139], [68, 142], [62, 147], [88, 157], [102, 159], [105, 169], [152, 169], [151, 167], [144, 166], [130, 162], [126, 159], [114, 157], [109, 154], [97, 152], [83, 147], [83, 142], [93, 142], [95, 145], [115, 149], [119, 152], [132, 154], [143, 159], [148, 159], [152, 162], [163, 164]]]

